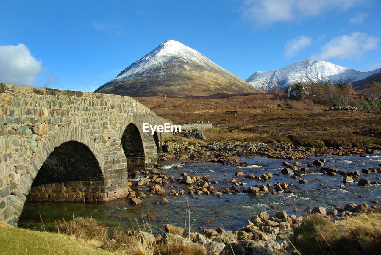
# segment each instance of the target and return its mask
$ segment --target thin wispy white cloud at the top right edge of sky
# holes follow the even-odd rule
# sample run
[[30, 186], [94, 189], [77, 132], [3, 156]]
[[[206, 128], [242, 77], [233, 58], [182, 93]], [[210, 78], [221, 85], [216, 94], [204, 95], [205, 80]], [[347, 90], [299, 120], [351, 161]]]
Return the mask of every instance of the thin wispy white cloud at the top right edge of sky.
[[300, 21], [315, 17], [328, 10], [345, 11], [363, 0], [244, 0], [243, 17], [258, 26], [269, 26], [275, 22]]

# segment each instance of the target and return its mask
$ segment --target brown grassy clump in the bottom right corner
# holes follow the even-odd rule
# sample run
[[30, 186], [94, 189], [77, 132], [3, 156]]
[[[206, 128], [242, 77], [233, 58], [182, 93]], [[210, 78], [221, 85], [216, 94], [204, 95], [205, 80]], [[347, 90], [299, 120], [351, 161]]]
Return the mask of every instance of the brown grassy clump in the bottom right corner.
[[381, 254], [381, 214], [343, 220], [337, 224], [311, 216], [295, 228], [294, 244], [302, 254]]

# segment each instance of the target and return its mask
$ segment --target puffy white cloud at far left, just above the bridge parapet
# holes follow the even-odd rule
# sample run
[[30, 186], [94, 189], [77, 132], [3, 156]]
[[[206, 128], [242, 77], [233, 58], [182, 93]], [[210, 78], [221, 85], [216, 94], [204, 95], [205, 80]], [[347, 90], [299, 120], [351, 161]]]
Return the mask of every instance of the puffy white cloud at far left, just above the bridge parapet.
[[26, 45], [0, 45], [0, 82], [33, 86], [43, 70]]

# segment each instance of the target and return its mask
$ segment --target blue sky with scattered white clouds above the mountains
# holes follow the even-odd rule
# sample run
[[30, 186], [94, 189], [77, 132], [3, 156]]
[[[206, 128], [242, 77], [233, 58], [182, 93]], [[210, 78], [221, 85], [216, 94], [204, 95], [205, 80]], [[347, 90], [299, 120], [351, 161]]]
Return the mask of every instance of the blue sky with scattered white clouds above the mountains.
[[315, 58], [381, 67], [379, 0], [0, 0], [0, 82], [94, 91], [166, 40], [246, 80]]

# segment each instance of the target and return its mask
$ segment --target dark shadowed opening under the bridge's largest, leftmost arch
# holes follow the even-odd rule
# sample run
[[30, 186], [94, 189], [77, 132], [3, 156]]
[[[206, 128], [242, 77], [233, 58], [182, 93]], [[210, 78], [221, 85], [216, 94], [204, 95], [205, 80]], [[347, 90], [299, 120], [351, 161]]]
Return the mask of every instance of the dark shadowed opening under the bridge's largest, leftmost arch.
[[102, 199], [104, 175], [85, 144], [64, 142], [40, 167], [27, 195], [30, 202], [97, 202]]

